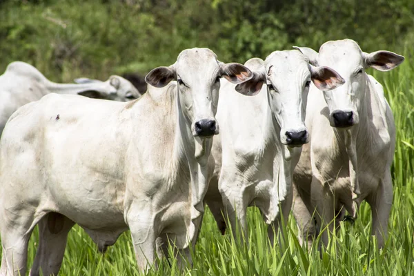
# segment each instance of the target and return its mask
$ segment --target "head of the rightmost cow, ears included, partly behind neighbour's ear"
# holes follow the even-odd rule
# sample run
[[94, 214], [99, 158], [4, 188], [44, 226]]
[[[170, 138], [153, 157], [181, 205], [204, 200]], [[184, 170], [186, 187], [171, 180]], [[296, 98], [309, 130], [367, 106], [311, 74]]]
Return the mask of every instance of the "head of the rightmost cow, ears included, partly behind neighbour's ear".
[[344, 86], [324, 91], [329, 122], [335, 128], [348, 129], [359, 123], [359, 110], [368, 82], [368, 76], [364, 72], [366, 68], [388, 71], [404, 61], [404, 57], [393, 52], [362, 52], [351, 39], [328, 41], [321, 46], [319, 54], [311, 48], [297, 49], [314, 66], [329, 66], [345, 79]]

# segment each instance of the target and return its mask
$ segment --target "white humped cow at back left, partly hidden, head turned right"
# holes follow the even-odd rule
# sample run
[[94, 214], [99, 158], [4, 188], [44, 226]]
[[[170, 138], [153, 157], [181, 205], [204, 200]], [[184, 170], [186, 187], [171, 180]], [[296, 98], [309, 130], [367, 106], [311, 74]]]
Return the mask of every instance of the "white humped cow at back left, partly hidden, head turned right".
[[0, 76], [0, 135], [7, 120], [17, 108], [50, 93], [79, 94], [117, 101], [137, 99], [140, 96], [132, 83], [115, 75], [108, 81], [86, 78], [76, 81], [83, 84], [54, 83], [28, 63], [22, 61], [10, 63]]

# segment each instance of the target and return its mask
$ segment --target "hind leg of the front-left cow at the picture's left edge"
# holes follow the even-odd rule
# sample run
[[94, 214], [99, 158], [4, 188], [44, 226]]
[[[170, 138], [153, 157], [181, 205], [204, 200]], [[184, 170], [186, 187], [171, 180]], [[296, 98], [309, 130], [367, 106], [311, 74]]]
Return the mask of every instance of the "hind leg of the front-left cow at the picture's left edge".
[[[3, 222], [3, 221], [1, 221]], [[28, 259], [28, 242], [32, 229], [30, 226], [4, 227], [1, 229], [1, 246], [3, 255], [1, 257], [0, 276], [26, 275]]]

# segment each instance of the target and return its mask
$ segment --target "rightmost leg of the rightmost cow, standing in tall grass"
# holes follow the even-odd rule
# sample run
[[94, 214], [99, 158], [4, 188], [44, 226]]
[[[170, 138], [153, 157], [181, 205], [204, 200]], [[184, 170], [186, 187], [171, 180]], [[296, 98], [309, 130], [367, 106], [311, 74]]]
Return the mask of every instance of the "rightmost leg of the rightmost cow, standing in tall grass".
[[368, 201], [371, 205], [373, 217], [372, 235], [377, 238], [378, 248], [384, 246], [384, 241], [388, 237], [388, 219], [393, 204], [393, 184], [391, 172], [386, 172], [386, 177], [380, 180], [376, 195]]

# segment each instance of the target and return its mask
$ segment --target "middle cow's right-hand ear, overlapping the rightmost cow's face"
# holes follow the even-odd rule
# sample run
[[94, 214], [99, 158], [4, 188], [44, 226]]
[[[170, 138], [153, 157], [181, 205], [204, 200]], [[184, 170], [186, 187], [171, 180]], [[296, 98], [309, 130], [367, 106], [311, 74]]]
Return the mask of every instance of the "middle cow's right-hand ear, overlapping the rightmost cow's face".
[[337, 88], [345, 83], [345, 80], [335, 70], [326, 66], [311, 66], [311, 79], [313, 84], [322, 91]]

